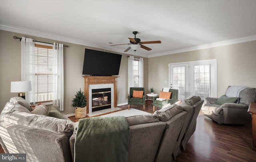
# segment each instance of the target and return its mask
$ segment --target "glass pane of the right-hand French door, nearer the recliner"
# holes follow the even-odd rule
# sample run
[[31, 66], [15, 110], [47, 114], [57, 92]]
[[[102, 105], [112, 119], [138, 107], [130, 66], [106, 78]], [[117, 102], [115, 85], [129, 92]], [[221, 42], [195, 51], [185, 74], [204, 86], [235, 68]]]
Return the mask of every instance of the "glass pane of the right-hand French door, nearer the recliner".
[[202, 100], [210, 97], [210, 64], [194, 66], [194, 90]]

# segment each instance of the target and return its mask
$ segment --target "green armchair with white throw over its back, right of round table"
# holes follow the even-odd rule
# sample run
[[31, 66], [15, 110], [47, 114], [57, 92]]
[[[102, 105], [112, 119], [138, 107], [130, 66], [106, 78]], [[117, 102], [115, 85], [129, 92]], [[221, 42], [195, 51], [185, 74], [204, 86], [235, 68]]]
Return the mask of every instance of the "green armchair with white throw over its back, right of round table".
[[178, 101], [178, 93], [179, 93], [179, 90], [175, 90], [175, 89], [169, 89], [169, 92], [172, 92], [172, 95], [171, 95], [171, 98], [168, 99], [168, 100], [164, 100], [164, 101], [159, 101], [159, 100], [156, 100], [156, 98], [158, 97], [153, 97], [153, 112], [155, 111], [155, 108], [158, 107], [158, 108], [162, 108], [164, 105], [166, 104], [174, 104], [175, 102]]

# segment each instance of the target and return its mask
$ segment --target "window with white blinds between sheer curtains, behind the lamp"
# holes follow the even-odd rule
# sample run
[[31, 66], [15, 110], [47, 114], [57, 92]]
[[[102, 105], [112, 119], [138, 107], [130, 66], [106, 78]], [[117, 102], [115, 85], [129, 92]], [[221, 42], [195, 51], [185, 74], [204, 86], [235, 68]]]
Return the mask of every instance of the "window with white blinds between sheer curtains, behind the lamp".
[[52, 56], [52, 46], [35, 44], [35, 102], [52, 100]]

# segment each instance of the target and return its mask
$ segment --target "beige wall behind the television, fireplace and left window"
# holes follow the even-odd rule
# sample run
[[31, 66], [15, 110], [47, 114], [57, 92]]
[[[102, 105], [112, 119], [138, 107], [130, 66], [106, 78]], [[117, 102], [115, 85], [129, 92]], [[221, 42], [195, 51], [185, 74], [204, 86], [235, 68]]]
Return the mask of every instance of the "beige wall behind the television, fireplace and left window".
[[[20, 80], [20, 51], [21, 44], [13, 36], [21, 38], [33, 38], [41, 42], [59, 42], [68, 45], [64, 48], [64, 114], [74, 113], [74, 108], [71, 107], [71, 100], [74, 98], [76, 91], [81, 88], [84, 90], [84, 78], [82, 77], [82, 68], [84, 63], [84, 49], [96, 49], [88, 46], [72, 44], [67, 42], [54, 41], [50, 39], [28, 36], [14, 32], [0, 30], [0, 111], [4, 108], [6, 102], [11, 97], [17, 96], [17, 93], [10, 93], [11, 81]], [[110, 52], [110, 51], [106, 51]], [[120, 54], [117, 52], [112, 52]], [[117, 104], [127, 103], [128, 94], [128, 55], [122, 54], [119, 77], [117, 79]], [[148, 87], [148, 58], [144, 58], [144, 86]], [[147, 92], [146, 92], [147, 93]]]

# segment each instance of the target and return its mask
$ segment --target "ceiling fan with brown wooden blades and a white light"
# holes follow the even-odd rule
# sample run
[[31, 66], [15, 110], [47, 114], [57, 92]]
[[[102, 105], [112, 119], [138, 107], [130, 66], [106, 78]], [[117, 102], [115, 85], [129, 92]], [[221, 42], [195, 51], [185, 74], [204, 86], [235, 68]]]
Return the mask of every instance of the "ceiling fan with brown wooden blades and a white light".
[[[134, 31], [132, 33], [134, 34], [134, 38], [128, 38], [130, 40], [130, 43], [128, 43], [128, 44], [131, 44], [131, 45], [124, 52], [127, 52], [131, 48], [132, 48], [132, 50], [136, 51], [139, 47], [150, 51], [150, 50], [152, 50], [151, 48], [148, 48], [142, 44], [161, 43], [160, 40], [141, 42], [140, 38], [136, 38], [136, 34], [138, 34], [138, 32]], [[110, 45], [110, 46], [118, 46], [118, 45], [124, 45], [124, 44], [115, 44], [115, 45]]]

